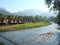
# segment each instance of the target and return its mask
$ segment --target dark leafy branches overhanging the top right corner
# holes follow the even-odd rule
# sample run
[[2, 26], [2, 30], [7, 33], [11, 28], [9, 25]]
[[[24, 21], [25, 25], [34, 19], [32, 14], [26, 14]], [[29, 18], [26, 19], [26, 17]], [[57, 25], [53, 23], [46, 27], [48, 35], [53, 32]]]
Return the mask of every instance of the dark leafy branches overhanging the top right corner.
[[51, 7], [52, 10], [60, 10], [60, 1], [59, 0], [45, 0], [46, 4], [48, 5], [48, 7], [51, 7], [52, 4], [53, 6]]

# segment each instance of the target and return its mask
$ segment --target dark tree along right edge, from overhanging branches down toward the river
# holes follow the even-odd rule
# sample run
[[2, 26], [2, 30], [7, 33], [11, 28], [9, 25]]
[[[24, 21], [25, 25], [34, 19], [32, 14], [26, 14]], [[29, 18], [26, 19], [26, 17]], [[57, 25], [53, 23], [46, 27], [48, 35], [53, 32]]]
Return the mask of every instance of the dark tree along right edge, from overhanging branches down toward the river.
[[60, 0], [45, 0], [51, 10], [58, 12], [57, 13], [57, 23], [60, 25]]

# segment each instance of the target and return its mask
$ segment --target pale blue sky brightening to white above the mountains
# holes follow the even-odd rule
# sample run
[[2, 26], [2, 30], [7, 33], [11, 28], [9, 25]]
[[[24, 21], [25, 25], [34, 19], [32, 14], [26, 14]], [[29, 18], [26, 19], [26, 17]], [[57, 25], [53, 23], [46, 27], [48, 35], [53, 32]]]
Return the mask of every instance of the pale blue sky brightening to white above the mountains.
[[0, 0], [0, 8], [5, 8], [10, 12], [27, 9], [37, 9], [44, 12], [49, 11], [45, 0]]

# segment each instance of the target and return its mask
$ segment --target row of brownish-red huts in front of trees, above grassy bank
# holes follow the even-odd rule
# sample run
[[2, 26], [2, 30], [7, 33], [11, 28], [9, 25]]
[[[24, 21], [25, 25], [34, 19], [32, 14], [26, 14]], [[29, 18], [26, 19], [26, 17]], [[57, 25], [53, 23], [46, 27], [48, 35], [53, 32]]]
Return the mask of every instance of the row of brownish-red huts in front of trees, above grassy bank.
[[2, 19], [0, 20], [0, 25], [4, 24], [23, 24], [26, 22], [34, 22], [33, 20], [29, 19]]

